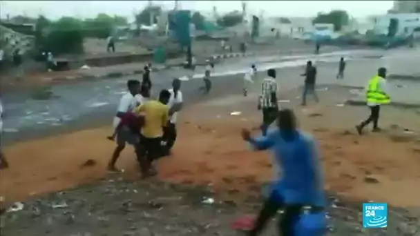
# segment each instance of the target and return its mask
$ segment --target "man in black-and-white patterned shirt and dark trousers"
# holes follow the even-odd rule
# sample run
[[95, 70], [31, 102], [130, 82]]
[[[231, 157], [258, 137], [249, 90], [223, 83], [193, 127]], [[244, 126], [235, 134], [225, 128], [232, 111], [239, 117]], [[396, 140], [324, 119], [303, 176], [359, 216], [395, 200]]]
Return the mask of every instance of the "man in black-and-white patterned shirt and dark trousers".
[[258, 102], [258, 110], [262, 109], [262, 135], [267, 134], [269, 126], [277, 119], [277, 81], [276, 70], [269, 69], [268, 77], [262, 81], [261, 95]]

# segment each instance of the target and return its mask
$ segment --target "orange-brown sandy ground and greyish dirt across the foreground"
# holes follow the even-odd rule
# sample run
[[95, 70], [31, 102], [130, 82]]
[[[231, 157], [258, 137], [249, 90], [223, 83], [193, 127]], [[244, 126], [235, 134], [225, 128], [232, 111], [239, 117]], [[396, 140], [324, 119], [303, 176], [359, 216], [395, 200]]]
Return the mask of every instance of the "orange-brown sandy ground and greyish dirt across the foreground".
[[[420, 132], [418, 115], [385, 108], [381, 120], [384, 132], [359, 137], [353, 127], [366, 116], [367, 109], [337, 106], [348, 89], [330, 87], [320, 92], [321, 104], [309, 102], [306, 108], [298, 106], [296, 92], [282, 94], [280, 99], [289, 99], [289, 102], [280, 105], [295, 108], [302, 128], [318, 139], [325, 188], [338, 193], [341, 199], [387, 202], [392, 213], [390, 220], [397, 214], [392, 207], [405, 208], [414, 214], [420, 207], [417, 199], [420, 193], [416, 188], [420, 180], [420, 140], [415, 134], [404, 134], [404, 130]], [[251, 151], [240, 139], [241, 128], [256, 130], [259, 125], [260, 114], [255, 108], [256, 97], [232, 95], [204, 101], [182, 112], [178, 126], [180, 137], [173, 156], [158, 162], [157, 180], [207, 186], [211, 190], [209, 193], [193, 190], [193, 198], [184, 196], [191, 195], [191, 190], [173, 193], [161, 184], [154, 184], [153, 179], [137, 181], [137, 164], [131, 148], [126, 148], [117, 164], [124, 168], [124, 173], [106, 173], [106, 161], [114, 147], [105, 138], [111, 132], [109, 127], [6, 146], [5, 153], [12, 168], [1, 172], [3, 206], [12, 201], [37, 200], [28, 202], [22, 213], [6, 215], [5, 235], [77, 235], [77, 230], [79, 235], [84, 235], [80, 232], [91, 232], [90, 235], [214, 235], [215, 232], [216, 235], [236, 235], [229, 230], [229, 222], [240, 214], [255, 212], [252, 206], [258, 207], [256, 199], [260, 188], [274, 172], [271, 154]], [[232, 111], [242, 113], [232, 116]], [[109, 178], [117, 180], [107, 180]], [[98, 181], [102, 184], [42, 197]], [[209, 194], [224, 203], [211, 209], [202, 204], [185, 208], [191, 206], [191, 202], [200, 203], [203, 196]], [[249, 200], [250, 197], [254, 200]], [[71, 206], [64, 206], [63, 210], [59, 206], [51, 208], [61, 201]], [[232, 204], [242, 207], [232, 209]], [[161, 208], [164, 210], [157, 210]], [[371, 234], [372, 231], [360, 230], [360, 204], [352, 210], [343, 209], [348, 212], [338, 208], [330, 210], [335, 227], [330, 235], [396, 235], [417, 230], [412, 221], [418, 219], [404, 217], [411, 223], [394, 220], [388, 231]], [[139, 210], [143, 213], [138, 214]], [[339, 213], [334, 213], [337, 211]], [[109, 228], [112, 225], [118, 226]], [[167, 228], [169, 225], [173, 225], [172, 228]], [[149, 234], [144, 230], [149, 230]], [[122, 233], [127, 231], [131, 234]]]

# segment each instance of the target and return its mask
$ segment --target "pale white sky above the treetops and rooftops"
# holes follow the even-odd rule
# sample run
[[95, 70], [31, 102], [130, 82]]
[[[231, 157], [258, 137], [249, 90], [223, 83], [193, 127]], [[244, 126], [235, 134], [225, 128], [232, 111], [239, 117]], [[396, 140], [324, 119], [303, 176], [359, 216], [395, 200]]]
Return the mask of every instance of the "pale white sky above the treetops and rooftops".
[[[62, 16], [95, 17], [97, 13], [119, 14], [129, 19], [134, 10], [141, 10], [149, 1], [0, 1], [1, 17], [26, 14], [36, 17], [44, 14], [57, 19]], [[216, 6], [219, 13], [241, 10], [241, 1], [179, 1], [182, 9], [211, 12]], [[278, 17], [314, 17], [317, 12], [347, 10], [352, 17], [385, 14], [393, 1], [247, 1], [250, 13]], [[153, 1], [164, 8], [173, 8], [175, 1]]]

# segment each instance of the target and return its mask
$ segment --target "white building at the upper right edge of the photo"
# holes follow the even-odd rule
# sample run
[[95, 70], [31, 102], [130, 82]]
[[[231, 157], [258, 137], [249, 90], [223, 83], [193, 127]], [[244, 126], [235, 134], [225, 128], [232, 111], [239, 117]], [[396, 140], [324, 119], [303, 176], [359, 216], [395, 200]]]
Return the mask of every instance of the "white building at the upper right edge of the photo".
[[397, 35], [411, 35], [414, 29], [420, 28], [420, 13], [385, 14], [370, 19], [374, 33], [388, 35], [391, 19], [398, 20]]

